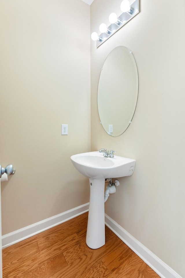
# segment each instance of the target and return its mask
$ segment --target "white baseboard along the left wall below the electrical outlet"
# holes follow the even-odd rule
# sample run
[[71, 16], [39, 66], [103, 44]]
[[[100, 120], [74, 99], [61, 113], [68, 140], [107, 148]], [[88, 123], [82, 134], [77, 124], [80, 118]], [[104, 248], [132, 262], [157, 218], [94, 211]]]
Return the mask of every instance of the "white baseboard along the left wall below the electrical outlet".
[[2, 236], [2, 248], [6, 248], [14, 243], [20, 242], [28, 237], [32, 237], [40, 232], [48, 230], [58, 224], [66, 222], [80, 214], [85, 213], [89, 209], [89, 203], [78, 206], [64, 213], [60, 213], [53, 217], [47, 218], [35, 224], [29, 225], [12, 233]]

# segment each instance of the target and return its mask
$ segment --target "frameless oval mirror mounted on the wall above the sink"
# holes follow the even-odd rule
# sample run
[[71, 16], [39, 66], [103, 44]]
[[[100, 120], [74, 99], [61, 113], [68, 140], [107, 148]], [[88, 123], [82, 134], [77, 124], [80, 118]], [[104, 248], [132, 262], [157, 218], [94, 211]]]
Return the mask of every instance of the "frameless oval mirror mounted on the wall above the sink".
[[132, 51], [115, 47], [107, 56], [98, 83], [100, 122], [111, 136], [130, 125], [138, 98], [138, 71]]

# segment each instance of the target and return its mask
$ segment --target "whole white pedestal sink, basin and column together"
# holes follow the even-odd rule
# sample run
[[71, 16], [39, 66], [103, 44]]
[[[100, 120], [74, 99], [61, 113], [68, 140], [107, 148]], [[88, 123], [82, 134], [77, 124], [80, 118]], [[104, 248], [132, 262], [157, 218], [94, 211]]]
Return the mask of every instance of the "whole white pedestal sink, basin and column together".
[[74, 167], [89, 178], [90, 201], [86, 244], [97, 249], [105, 244], [104, 187], [106, 178], [131, 176], [136, 160], [114, 156], [104, 157], [99, 151], [71, 156]]

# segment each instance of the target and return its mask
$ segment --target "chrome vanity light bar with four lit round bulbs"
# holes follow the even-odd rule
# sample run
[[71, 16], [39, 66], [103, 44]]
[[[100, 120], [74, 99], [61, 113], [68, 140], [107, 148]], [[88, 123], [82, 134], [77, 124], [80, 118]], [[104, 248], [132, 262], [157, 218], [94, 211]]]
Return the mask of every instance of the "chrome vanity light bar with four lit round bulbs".
[[[131, 1], [131, 0], [130, 0]], [[91, 39], [96, 41], [96, 47], [99, 47], [107, 39], [109, 39], [116, 31], [118, 31], [123, 25], [125, 25], [129, 20], [135, 17], [139, 13], [139, 0], [135, 0], [131, 5], [128, 0], [123, 0], [121, 2], [121, 11], [119, 17], [112, 12], [109, 16], [110, 25], [107, 27], [105, 23], [101, 23], [99, 30], [101, 32], [98, 35], [96, 32], [91, 34]]]

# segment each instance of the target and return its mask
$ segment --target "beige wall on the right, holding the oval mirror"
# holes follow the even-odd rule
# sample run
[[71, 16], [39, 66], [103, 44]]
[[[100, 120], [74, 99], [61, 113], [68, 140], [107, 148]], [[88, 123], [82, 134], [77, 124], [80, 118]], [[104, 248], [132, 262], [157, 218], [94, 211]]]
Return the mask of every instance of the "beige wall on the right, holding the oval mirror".
[[[119, 178], [106, 213], [185, 277], [185, 16], [167, 0], [140, 2], [141, 12], [108, 41], [97, 49], [91, 42], [91, 150], [113, 149], [136, 159], [132, 177]], [[119, 15], [120, 3], [94, 0], [91, 32], [99, 33], [111, 12]], [[178, 7], [185, 9], [184, 0]], [[132, 125], [115, 138], [99, 123], [97, 86], [106, 56], [118, 45], [133, 51], [139, 94]], [[112, 105], [116, 109], [116, 100]]]

